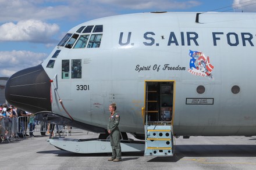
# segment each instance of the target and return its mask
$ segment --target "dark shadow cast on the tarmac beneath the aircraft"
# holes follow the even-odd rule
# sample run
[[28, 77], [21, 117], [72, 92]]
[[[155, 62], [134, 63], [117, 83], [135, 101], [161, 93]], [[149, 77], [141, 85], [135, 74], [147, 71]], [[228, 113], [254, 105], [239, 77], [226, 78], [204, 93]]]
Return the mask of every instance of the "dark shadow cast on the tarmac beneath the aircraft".
[[[107, 157], [111, 153], [79, 154], [65, 150], [40, 151], [41, 154], [56, 154], [58, 157]], [[177, 145], [173, 156], [152, 157], [148, 162], [177, 162], [184, 157], [256, 157], [255, 145]], [[144, 152], [122, 153], [123, 161], [137, 160], [143, 157]], [[130, 157], [130, 158], [129, 158]]]

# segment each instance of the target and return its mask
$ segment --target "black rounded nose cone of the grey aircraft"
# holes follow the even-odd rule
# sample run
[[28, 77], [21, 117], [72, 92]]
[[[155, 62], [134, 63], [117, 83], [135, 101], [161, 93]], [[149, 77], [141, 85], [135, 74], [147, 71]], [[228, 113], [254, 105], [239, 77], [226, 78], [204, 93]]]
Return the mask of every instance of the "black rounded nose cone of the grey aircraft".
[[5, 86], [9, 104], [30, 113], [51, 111], [51, 82], [41, 65], [13, 74]]

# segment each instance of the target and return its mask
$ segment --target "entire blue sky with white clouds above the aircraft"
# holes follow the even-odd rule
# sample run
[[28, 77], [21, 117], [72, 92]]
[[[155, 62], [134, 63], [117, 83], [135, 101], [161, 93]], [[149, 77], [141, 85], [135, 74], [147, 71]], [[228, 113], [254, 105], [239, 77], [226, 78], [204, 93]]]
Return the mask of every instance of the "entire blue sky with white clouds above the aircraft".
[[0, 0], [0, 77], [42, 63], [78, 24], [153, 11], [256, 12], [256, 0]]

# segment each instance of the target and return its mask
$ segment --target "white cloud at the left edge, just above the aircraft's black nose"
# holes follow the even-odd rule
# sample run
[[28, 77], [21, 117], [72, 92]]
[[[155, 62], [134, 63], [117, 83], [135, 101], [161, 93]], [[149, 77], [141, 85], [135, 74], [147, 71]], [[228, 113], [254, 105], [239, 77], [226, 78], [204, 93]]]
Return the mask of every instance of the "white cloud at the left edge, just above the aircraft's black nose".
[[46, 53], [25, 50], [0, 51], [0, 77], [10, 77], [24, 68], [37, 66], [47, 57]]

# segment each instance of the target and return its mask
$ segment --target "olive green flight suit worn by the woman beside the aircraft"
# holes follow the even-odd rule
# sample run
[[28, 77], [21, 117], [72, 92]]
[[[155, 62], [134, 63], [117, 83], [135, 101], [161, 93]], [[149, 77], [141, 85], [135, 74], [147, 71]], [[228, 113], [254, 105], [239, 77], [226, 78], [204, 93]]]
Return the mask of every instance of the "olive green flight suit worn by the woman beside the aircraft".
[[110, 130], [111, 133], [110, 135], [110, 143], [112, 147], [112, 158], [113, 159], [118, 159], [120, 160], [122, 155], [121, 155], [121, 146], [120, 146], [120, 131], [118, 128], [120, 121], [120, 116], [118, 113], [114, 113], [109, 117], [109, 122], [108, 122], [108, 131]]

